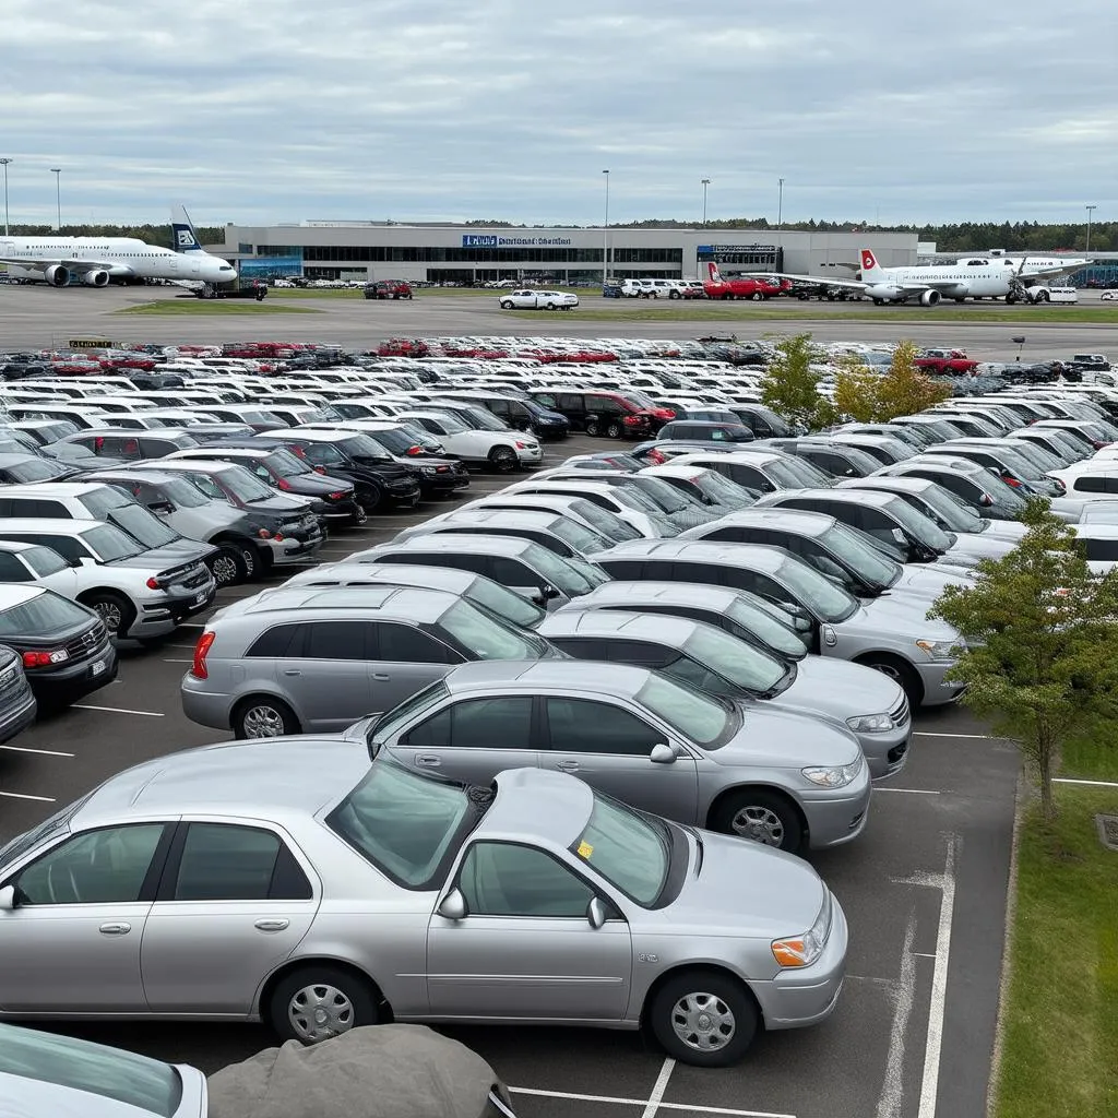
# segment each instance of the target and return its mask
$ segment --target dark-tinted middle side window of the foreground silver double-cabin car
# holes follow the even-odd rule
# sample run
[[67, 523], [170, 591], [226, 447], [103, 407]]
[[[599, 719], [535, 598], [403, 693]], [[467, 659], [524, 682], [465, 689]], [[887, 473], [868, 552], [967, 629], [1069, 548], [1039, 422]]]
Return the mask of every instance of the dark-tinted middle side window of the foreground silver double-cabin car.
[[278, 835], [263, 827], [191, 823], [173, 900], [309, 900], [311, 883]]

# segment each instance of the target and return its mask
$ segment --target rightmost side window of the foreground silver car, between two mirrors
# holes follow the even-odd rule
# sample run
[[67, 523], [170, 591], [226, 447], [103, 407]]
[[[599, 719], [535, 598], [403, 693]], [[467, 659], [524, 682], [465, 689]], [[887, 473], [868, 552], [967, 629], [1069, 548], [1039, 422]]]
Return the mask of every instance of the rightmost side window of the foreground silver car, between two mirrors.
[[514, 843], [477, 842], [458, 872], [468, 916], [586, 919], [594, 890], [550, 854]]

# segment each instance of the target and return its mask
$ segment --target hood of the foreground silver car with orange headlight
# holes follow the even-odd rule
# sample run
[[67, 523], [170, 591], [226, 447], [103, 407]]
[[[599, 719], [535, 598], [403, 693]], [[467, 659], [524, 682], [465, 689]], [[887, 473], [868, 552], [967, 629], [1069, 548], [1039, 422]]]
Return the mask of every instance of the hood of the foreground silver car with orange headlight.
[[690, 865], [679, 897], [648, 913], [662, 918], [662, 934], [773, 940], [803, 934], [815, 922], [824, 884], [803, 859], [710, 831], [699, 832], [700, 855], [690, 834]]

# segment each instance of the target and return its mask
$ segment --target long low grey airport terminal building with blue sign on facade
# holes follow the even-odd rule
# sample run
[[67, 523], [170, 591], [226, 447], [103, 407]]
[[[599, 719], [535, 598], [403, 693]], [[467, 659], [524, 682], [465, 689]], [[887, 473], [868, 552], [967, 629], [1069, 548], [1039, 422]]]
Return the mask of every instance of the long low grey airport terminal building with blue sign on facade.
[[859, 249], [870, 247], [885, 266], [915, 264], [915, 234], [800, 233], [776, 229], [608, 229], [400, 225], [380, 221], [305, 221], [237, 226], [225, 244], [207, 246], [245, 278], [487, 280], [598, 283], [603, 258], [618, 278], [702, 278], [714, 260], [723, 274], [796, 272], [850, 278]]

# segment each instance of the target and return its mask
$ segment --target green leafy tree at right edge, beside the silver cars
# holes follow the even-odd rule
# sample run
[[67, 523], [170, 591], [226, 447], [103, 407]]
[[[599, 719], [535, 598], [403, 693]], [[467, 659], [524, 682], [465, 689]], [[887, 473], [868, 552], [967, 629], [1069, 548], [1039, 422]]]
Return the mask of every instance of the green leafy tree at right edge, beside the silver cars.
[[948, 587], [929, 616], [966, 635], [950, 678], [1021, 748], [1051, 819], [1061, 747], [1118, 712], [1118, 570], [1093, 576], [1045, 502], [1031, 501], [1022, 520], [1017, 547], [979, 563], [974, 585]]

